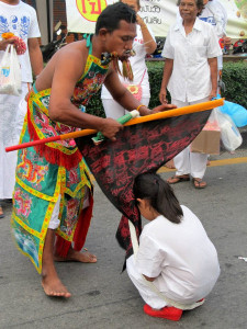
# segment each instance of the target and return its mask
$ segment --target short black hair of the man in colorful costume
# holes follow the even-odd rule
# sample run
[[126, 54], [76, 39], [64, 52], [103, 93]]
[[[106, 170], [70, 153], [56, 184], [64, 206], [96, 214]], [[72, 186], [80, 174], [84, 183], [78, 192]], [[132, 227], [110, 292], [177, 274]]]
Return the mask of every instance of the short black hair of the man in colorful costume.
[[115, 2], [108, 5], [97, 20], [96, 34], [99, 34], [102, 27], [105, 27], [109, 32], [117, 30], [120, 27], [120, 21], [136, 23], [135, 11], [123, 2]]

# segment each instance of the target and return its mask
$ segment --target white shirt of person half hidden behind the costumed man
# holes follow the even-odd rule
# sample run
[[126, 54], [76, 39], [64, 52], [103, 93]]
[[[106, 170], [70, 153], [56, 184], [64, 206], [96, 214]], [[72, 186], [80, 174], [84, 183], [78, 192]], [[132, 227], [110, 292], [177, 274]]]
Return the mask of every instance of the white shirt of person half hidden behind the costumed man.
[[[155, 36], [150, 29], [147, 26], [150, 35], [153, 36], [155, 41]], [[142, 81], [142, 88], [143, 88], [143, 97], [149, 98], [150, 97], [150, 90], [149, 90], [149, 81], [148, 81], [148, 73], [147, 73], [147, 67], [146, 67], [146, 49], [143, 41], [143, 34], [141, 26], [136, 26], [136, 37], [133, 42], [133, 49], [136, 52], [136, 55], [130, 58], [134, 80], [130, 82], [128, 80], [124, 79], [122, 76], [119, 75], [120, 81], [123, 83], [131, 83], [131, 84], [139, 84]], [[122, 61], [119, 60], [119, 66], [122, 71]], [[108, 89], [102, 86], [101, 91], [101, 98], [102, 99], [112, 99], [111, 93], [108, 91]]]

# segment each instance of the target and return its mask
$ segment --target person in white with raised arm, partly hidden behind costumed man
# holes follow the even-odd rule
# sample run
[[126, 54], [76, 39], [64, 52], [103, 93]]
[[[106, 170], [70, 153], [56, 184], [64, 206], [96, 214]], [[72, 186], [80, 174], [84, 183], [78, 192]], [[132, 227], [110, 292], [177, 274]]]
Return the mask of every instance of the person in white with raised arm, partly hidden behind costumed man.
[[[135, 12], [138, 12], [141, 9], [139, 0], [122, 0], [121, 2], [128, 4]], [[141, 84], [143, 93], [139, 101], [146, 106], [148, 106], [149, 103], [150, 90], [145, 57], [147, 54], [153, 54], [156, 47], [157, 45], [155, 36], [153, 35], [150, 29], [147, 27], [142, 18], [137, 14], [136, 37], [133, 42], [133, 49], [135, 50], [136, 55], [130, 58], [134, 75], [134, 81], [130, 82], [121, 76], [120, 80], [124, 84]], [[122, 70], [121, 61], [119, 61], [119, 66]], [[106, 117], [116, 120], [125, 114], [125, 109], [113, 100], [111, 93], [104, 86], [102, 87], [101, 99]]]

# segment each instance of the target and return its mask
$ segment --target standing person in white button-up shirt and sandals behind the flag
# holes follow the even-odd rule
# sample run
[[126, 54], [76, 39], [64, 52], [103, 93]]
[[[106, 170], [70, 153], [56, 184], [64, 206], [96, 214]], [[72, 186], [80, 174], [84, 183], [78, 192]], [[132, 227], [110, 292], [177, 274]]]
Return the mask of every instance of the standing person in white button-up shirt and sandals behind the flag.
[[[217, 56], [222, 54], [213, 27], [197, 16], [203, 9], [203, 0], [180, 0], [182, 20], [170, 27], [162, 50], [166, 57], [159, 100], [166, 103], [167, 88], [171, 102], [178, 107], [202, 103], [217, 94]], [[175, 157], [176, 175], [170, 184], [189, 181], [195, 189], [204, 189], [203, 177], [207, 155], [190, 151], [188, 146]]]

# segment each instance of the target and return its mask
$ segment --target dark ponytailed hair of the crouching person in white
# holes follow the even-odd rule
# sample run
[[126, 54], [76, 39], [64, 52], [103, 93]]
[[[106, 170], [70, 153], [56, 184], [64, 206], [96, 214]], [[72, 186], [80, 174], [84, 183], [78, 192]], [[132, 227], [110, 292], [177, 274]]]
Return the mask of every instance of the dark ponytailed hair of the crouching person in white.
[[135, 198], [147, 198], [156, 212], [172, 223], [179, 224], [182, 208], [171, 186], [157, 173], [142, 173], [135, 178], [133, 192]]

